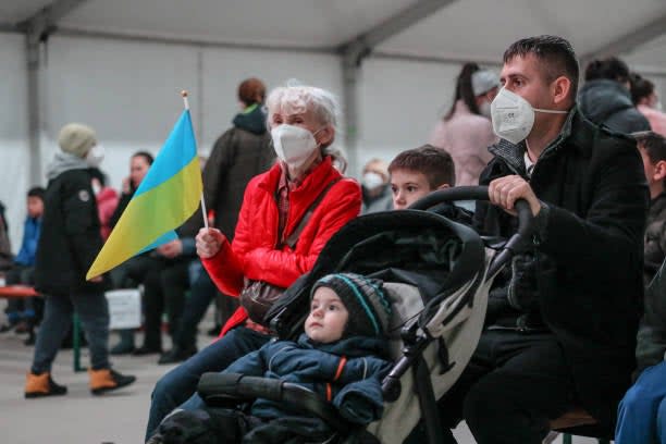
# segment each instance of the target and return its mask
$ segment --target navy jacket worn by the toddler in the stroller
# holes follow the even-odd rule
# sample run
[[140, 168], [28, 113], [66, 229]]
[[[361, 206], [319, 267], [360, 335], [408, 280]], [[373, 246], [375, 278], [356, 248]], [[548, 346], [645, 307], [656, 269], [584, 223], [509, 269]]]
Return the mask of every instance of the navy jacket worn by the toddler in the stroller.
[[[367, 424], [382, 416], [381, 380], [391, 368], [384, 356], [387, 356], [385, 340], [353, 336], [332, 344], [318, 344], [304, 333], [297, 343], [270, 342], [236, 360], [225, 372], [297, 383], [319, 393], [323, 399], [326, 399], [326, 385], [330, 384], [330, 400], [341, 415], [350, 422]], [[336, 378], [341, 361], [344, 367]], [[305, 416], [267, 399], [257, 399], [251, 415], [262, 419]]]

